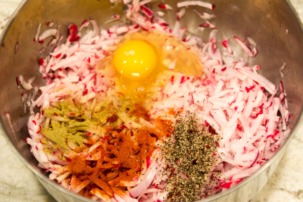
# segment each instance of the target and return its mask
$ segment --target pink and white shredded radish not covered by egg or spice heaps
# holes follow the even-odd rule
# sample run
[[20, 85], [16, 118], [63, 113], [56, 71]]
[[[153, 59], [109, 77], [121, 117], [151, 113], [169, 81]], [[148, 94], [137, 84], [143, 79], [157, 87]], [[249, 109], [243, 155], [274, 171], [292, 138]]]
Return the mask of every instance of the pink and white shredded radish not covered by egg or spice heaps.
[[[25, 112], [29, 107], [31, 114], [27, 122], [30, 138], [26, 138], [26, 143], [30, 145], [39, 166], [50, 172], [51, 180], [94, 201], [164, 202], [169, 199], [172, 184], [168, 181], [171, 175], [185, 179], [188, 175], [178, 172], [178, 168], [165, 159], [161, 148], [170, 134], [163, 136], [156, 123], [177, 123], [176, 114], [184, 119], [187, 112], [195, 114], [195, 120], [202, 131], [212, 131], [211, 133], [220, 136], [216, 152], [211, 153], [216, 159], [216, 165], [200, 188], [201, 193], [196, 196], [197, 199], [212, 196], [241, 183], [263, 166], [290, 134], [290, 114], [282, 82], [278, 94], [276, 85], [257, 73], [260, 69], [258, 65], [249, 67], [241, 57], [233, 53], [226, 37], [221, 42], [222, 45], [219, 45], [223, 47], [222, 50], [219, 49], [216, 39], [218, 30], [208, 21], [215, 17], [214, 14], [195, 11], [202, 19], [200, 27], [212, 28], [208, 42], [188, 35], [186, 27], [181, 27], [179, 20], [185, 15], [187, 6], [196, 5], [213, 10], [213, 4], [199, 0], [178, 2], [177, 8], [181, 9], [177, 12], [176, 23], [169, 26], [162, 19], [165, 13], [153, 12], [150, 2], [152, 0], [123, 0], [128, 7], [126, 19], [130, 24], [114, 25], [108, 30], [100, 28], [97, 21], [91, 19], [84, 21], [79, 29], [77, 25], [69, 24], [68, 37], [64, 38], [59, 33], [60, 26], [44, 30], [40, 34], [39, 24], [35, 40], [43, 43], [47, 37], [55, 36], [49, 44], [54, 46], [53, 51], [39, 60], [39, 71], [47, 85], [38, 89], [37, 86], [33, 87], [34, 77], [27, 81], [21, 75], [16, 77], [18, 88], [22, 86], [25, 90], [31, 90], [31, 93], [23, 93], [21, 98]], [[168, 4], [158, 4], [158, 7], [174, 9]], [[120, 19], [121, 16], [113, 15], [105, 24]], [[49, 26], [51, 24], [53, 23]], [[106, 68], [98, 69], [99, 63], [106, 63], [104, 61], [108, 54], [115, 50], [116, 44], [126, 33], [142, 30], [156, 30], [168, 38], [175, 37], [182, 41], [184, 47], [190, 47], [188, 50], [197, 51], [197, 63], [202, 63], [200, 67], [203, 67], [202, 76], [187, 76], [176, 71], [177, 58], [161, 61], [167, 69], [155, 78], [151, 101], [142, 100], [148, 119], [129, 115], [129, 108], [119, 98], [121, 92], [113, 84], [114, 73]], [[233, 38], [247, 56], [256, 56], [258, 52], [252, 39], [247, 38], [247, 45], [238, 37]], [[163, 44], [163, 47], [167, 50], [175, 49], [168, 43]], [[177, 57], [187, 59], [186, 55]], [[285, 65], [284, 63], [280, 68], [282, 77]], [[36, 98], [38, 90], [41, 94]], [[65, 147], [57, 147], [54, 140], [43, 134], [51, 123], [60, 123], [62, 127], [67, 126], [71, 134], [76, 133], [72, 130], [75, 126], [69, 122], [70, 117], [76, 116], [76, 111], [71, 110], [65, 115], [57, 112], [47, 114], [47, 109], [60, 101], [73, 101], [83, 106], [83, 116], [89, 121], [94, 119], [94, 110], [106, 108], [105, 105], [102, 106], [105, 102], [120, 111], [104, 120], [99, 117], [98, 124], [94, 126], [80, 127], [85, 136], [83, 142], [75, 143], [66, 139], [63, 141]], [[40, 107], [40, 113], [34, 113], [34, 107]], [[10, 118], [8, 113], [6, 116]], [[115, 122], [111, 122], [111, 119]], [[85, 122], [84, 119], [77, 124], [81, 122]], [[112, 125], [119, 132], [109, 132], [108, 127]], [[119, 180], [114, 184], [114, 178], [119, 175], [117, 172], [123, 169], [117, 162], [110, 161], [115, 155], [108, 148], [113, 147], [112, 142], [119, 139], [121, 134], [128, 135], [137, 145], [136, 131], [142, 127], [148, 128], [153, 136], [157, 136], [154, 137], [156, 142], [153, 145], [156, 149], [143, 161], [136, 177], [130, 181]], [[99, 175], [81, 178], [70, 166], [70, 161], [75, 156], [91, 168], [104, 167]], [[111, 165], [109, 162], [112, 162]], [[180, 162], [181, 159], [178, 163]], [[217, 174], [220, 175], [215, 180], [210, 180], [212, 175]], [[102, 177], [106, 180], [102, 181]]]

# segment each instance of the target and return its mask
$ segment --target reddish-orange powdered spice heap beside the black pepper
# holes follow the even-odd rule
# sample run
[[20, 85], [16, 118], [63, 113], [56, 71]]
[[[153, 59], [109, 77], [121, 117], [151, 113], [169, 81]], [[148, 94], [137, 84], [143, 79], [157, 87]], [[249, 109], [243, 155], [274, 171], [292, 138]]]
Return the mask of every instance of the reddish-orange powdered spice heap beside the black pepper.
[[[139, 105], [129, 115], [150, 121], [146, 110]], [[148, 158], [156, 149], [156, 141], [169, 134], [170, 123], [159, 120], [153, 125], [156, 129], [107, 126], [106, 136], [98, 140], [100, 146], [90, 154], [99, 155], [97, 161], [85, 160], [87, 156], [72, 156], [67, 170], [72, 172], [71, 181], [75, 188], [84, 187], [78, 194], [89, 197], [97, 193], [106, 199], [112, 198], [114, 192], [123, 194], [125, 183], [140, 176], [144, 163], [149, 166]]]

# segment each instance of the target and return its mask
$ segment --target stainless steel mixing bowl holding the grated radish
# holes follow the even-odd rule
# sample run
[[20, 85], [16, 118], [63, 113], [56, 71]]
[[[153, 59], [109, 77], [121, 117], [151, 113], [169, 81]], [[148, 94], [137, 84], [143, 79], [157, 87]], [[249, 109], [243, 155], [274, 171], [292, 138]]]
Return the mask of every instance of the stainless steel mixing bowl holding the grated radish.
[[[206, 0], [210, 1], [210, 0]], [[174, 5], [173, 11], [167, 12], [165, 18], [173, 25], [176, 20], [176, 0], [158, 0], [151, 3], [153, 10], [158, 10], [157, 4], [166, 2]], [[217, 18], [212, 21], [219, 29], [218, 39], [222, 41], [223, 34], [227, 37], [251, 37], [257, 44], [259, 54], [249, 60], [250, 64], [259, 64], [261, 74], [278, 85], [282, 80], [287, 92], [287, 99], [291, 118], [289, 126], [295, 128], [303, 106], [303, 28], [294, 9], [287, 0], [211, 0], [215, 4]], [[191, 6], [181, 20], [188, 31], [197, 34], [207, 41], [209, 29], [198, 28], [200, 18], [193, 12], [200, 12], [205, 8]], [[208, 12], [210, 12], [208, 10]], [[29, 137], [26, 122], [29, 116], [24, 113], [21, 93], [28, 93], [25, 89], [17, 89], [16, 76], [27, 78], [36, 76], [34, 84], [43, 85], [45, 81], [39, 74], [39, 58], [45, 56], [51, 48], [45, 44], [34, 43], [33, 38], [37, 26], [42, 23], [42, 30], [47, 22], [54, 22], [54, 26], [62, 23], [80, 25], [85, 19], [94, 18], [102, 25], [112, 14], [123, 15], [123, 5], [118, 2], [113, 6], [107, 0], [25, 0], [13, 14], [9, 24], [3, 31], [0, 44], [0, 119], [1, 129], [6, 132], [6, 139], [17, 156], [36, 175], [57, 201], [89, 201], [73, 194], [48, 179], [48, 174], [37, 167], [37, 161], [25, 144]], [[288, 30], [288, 31], [286, 31]], [[66, 30], [62, 30], [62, 33]], [[16, 52], [16, 44], [19, 45]], [[45, 46], [43, 55], [39, 55]], [[231, 43], [233, 50], [242, 54], [239, 47]], [[281, 78], [279, 68], [286, 62]], [[5, 116], [9, 112], [11, 122]], [[295, 130], [295, 129], [294, 129]], [[294, 132], [269, 160], [254, 175], [248, 177], [227, 192], [220, 193], [205, 201], [249, 201], [262, 189], [277, 167], [282, 153], [293, 137]]]

